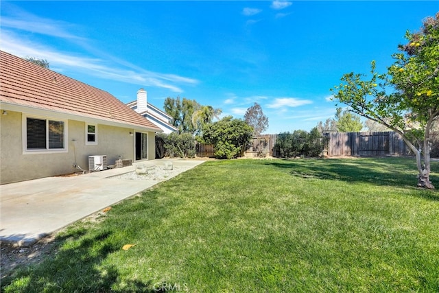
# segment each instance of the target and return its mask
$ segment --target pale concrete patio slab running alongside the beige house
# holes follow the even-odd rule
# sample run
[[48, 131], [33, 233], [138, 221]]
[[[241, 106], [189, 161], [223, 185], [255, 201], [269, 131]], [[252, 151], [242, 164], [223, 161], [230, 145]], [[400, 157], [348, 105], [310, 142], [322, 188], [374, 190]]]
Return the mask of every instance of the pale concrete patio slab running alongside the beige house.
[[[176, 167], [174, 169], [181, 167], [182, 172], [204, 162], [161, 159], [140, 164], [163, 167], [169, 161]], [[32, 245], [64, 226], [163, 181], [112, 177], [134, 170], [135, 165], [132, 165], [80, 176], [47, 177], [0, 185], [1, 242]], [[166, 180], [169, 178], [172, 176]]]

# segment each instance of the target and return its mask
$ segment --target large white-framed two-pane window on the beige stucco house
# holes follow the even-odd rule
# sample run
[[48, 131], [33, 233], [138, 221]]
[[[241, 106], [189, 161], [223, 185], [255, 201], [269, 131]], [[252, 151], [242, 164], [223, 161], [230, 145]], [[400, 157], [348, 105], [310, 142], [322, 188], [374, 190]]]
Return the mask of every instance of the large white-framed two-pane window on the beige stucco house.
[[26, 150], [65, 150], [65, 123], [26, 117]]

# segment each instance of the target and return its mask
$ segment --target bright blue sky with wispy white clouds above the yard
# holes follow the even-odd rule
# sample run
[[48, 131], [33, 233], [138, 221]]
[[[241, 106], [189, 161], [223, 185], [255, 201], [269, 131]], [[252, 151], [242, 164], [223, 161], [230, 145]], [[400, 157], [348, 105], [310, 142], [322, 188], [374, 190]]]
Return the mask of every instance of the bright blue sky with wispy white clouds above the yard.
[[163, 108], [186, 97], [243, 118], [257, 102], [266, 133], [333, 117], [344, 73], [385, 71], [406, 30], [438, 1], [1, 1], [0, 49], [122, 102], [141, 88]]

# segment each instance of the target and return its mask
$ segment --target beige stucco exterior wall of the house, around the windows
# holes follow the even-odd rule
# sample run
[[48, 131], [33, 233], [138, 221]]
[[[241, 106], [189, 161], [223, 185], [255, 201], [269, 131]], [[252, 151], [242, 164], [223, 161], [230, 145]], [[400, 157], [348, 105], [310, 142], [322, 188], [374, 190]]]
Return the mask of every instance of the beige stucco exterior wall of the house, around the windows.
[[[85, 122], [67, 121], [67, 152], [23, 154], [22, 113], [8, 110], [0, 115], [0, 184], [13, 183], [47, 176], [70, 174], [88, 169], [88, 156], [106, 155], [108, 165], [115, 160], [131, 159], [134, 162], [133, 130], [97, 124], [97, 145], [86, 145]], [[155, 159], [154, 132], [148, 133], [148, 159]]]

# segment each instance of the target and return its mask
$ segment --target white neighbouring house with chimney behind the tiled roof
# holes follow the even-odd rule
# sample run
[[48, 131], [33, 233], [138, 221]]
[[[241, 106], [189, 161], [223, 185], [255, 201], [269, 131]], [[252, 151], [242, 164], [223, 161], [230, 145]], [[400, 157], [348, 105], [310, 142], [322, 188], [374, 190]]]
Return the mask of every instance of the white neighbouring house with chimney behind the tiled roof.
[[139, 91], [137, 91], [137, 100], [127, 105], [146, 119], [152, 121], [152, 123], [161, 128], [163, 132], [171, 133], [178, 131], [175, 126], [170, 124], [171, 116], [147, 102], [147, 92], [144, 89], [139, 89]]

